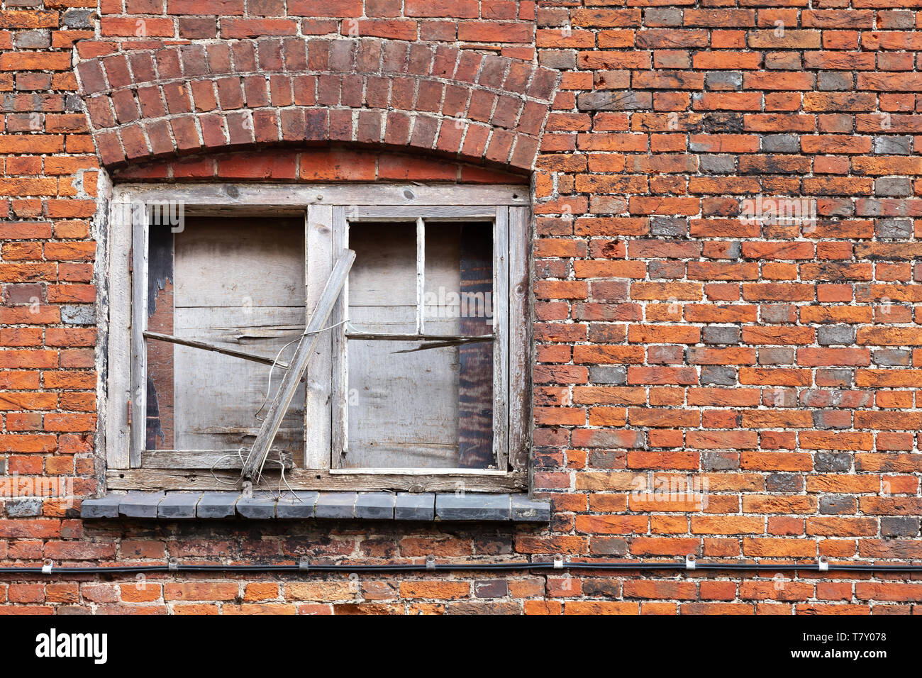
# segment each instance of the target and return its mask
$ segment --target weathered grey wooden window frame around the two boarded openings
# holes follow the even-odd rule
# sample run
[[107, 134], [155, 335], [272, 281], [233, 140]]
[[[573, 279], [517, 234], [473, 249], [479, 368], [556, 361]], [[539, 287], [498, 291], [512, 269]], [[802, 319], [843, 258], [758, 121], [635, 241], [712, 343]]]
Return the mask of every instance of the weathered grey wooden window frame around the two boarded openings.
[[[494, 426], [496, 468], [344, 469], [347, 325], [321, 335], [306, 379], [304, 466], [287, 470], [294, 490], [522, 492], [531, 432], [531, 213], [527, 186], [467, 184], [123, 184], [112, 193], [102, 287], [108, 305], [108, 368], [100, 412], [106, 482], [124, 490], [228, 490], [239, 470], [190, 468], [144, 456], [146, 422], [148, 206], [172, 202], [186, 217], [301, 216], [305, 222], [306, 312], [348, 246], [358, 220], [491, 220], [494, 251]], [[419, 266], [419, 263], [418, 263]], [[330, 318], [341, 323], [348, 290]], [[420, 332], [422, 334], [422, 332]], [[326, 376], [325, 376], [326, 375]], [[166, 457], [166, 456], [164, 456]], [[264, 485], [278, 473], [266, 467]], [[282, 485], [284, 487], [284, 485]]]

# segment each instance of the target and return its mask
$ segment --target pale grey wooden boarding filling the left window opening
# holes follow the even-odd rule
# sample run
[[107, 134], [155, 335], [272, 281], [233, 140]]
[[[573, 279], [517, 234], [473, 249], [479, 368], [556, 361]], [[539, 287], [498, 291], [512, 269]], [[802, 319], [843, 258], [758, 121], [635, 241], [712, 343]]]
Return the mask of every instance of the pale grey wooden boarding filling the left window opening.
[[[269, 360], [175, 345], [176, 437], [164, 447], [249, 451], [254, 437], [221, 432], [259, 426], [254, 417], [265, 413], [284, 375], [271, 370], [270, 383], [269, 365], [290, 344], [279, 356], [287, 360], [295, 350], [290, 342], [303, 332], [304, 220], [186, 218], [185, 226], [175, 236], [169, 334]], [[298, 330], [290, 332], [292, 326]], [[275, 445], [290, 449], [299, 464], [303, 405], [297, 396]]]

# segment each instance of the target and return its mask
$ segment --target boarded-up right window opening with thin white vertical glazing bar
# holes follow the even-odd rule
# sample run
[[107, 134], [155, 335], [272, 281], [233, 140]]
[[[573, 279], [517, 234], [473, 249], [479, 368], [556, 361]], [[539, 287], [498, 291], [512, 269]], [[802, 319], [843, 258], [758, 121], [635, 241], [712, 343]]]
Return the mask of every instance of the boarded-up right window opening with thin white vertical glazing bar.
[[346, 346], [343, 466], [494, 466], [492, 224], [359, 222], [349, 248], [350, 332], [380, 336]]

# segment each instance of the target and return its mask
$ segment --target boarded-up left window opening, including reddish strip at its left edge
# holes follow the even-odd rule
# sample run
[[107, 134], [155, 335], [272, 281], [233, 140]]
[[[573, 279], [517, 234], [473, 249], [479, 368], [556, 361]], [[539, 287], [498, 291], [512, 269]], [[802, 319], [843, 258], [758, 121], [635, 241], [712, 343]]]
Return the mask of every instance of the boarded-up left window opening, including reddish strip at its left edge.
[[[148, 331], [271, 362], [304, 327], [303, 222], [186, 219], [181, 232], [152, 225], [148, 289]], [[165, 340], [147, 347], [148, 450], [248, 450], [278, 367], [270, 387], [269, 364]], [[303, 412], [301, 393], [277, 437], [297, 458]]]

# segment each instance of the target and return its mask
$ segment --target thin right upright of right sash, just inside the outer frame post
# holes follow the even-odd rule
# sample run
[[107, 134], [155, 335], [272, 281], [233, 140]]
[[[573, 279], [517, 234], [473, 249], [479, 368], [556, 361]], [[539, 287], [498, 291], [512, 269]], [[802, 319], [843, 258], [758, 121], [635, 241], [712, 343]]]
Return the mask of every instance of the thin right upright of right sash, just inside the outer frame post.
[[493, 452], [496, 468], [509, 458], [507, 385], [509, 377], [509, 209], [496, 208], [493, 230]]

